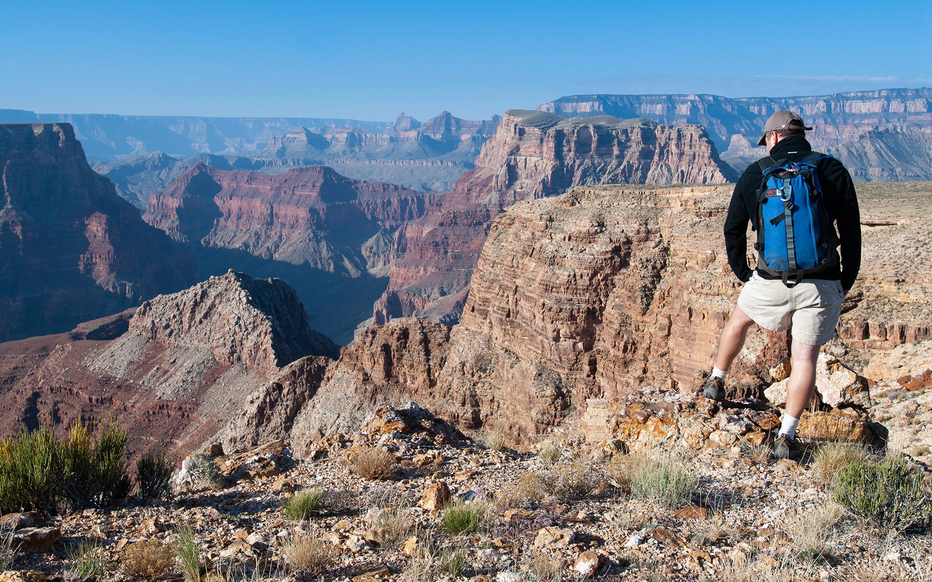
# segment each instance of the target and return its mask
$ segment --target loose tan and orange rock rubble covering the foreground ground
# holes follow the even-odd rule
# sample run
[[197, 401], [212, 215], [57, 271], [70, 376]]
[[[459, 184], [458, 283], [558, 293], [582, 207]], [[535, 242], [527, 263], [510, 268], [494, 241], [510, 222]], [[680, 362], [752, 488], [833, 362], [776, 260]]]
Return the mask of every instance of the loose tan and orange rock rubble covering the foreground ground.
[[[68, 548], [81, 540], [103, 544], [111, 564], [103, 580], [130, 580], [119, 565], [127, 548], [145, 539], [172, 543], [179, 525], [194, 529], [210, 580], [524, 581], [545, 579], [547, 568], [563, 579], [601, 580], [847, 580], [858, 569], [896, 580], [932, 575], [932, 538], [925, 531], [889, 535], [850, 515], [826, 535], [829, 558], [801, 556], [791, 524], [830, 506], [831, 492], [816, 479], [811, 455], [774, 462], [755, 453], [764, 439], [755, 435], [774, 423], [772, 409], [651, 389], [610, 411], [610, 440], [557, 444], [555, 459], [544, 461], [488, 450], [416, 404], [386, 407], [360, 432], [321, 440], [319, 454], [306, 461], [292, 459], [282, 441], [217, 456], [226, 477], [220, 491], [201, 488], [171, 502], [49, 519], [4, 516], [0, 524], [15, 524], [17, 540], [47, 543], [23, 546], [16, 570], [0, 580], [69, 579]], [[700, 482], [692, 504], [665, 507], [611, 484], [606, 459], [649, 450], [649, 436], [658, 437], [653, 446], [679, 443], [672, 448], [689, 453], [682, 458]], [[366, 480], [349, 470], [347, 459], [361, 446], [394, 455], [392, 480]], [[585, 491], [521, 493], [524, 483], [543, 482], [560, 467], [586, 472]], [[284, 496], [317, 488], [326, 492], [320, 515], [285, 518]], [[443, 534], [445, 507], [453, 500], [485, 504], [484, 525], [465, 535]], [[323, 574], [286, 564], [286, 548], [300, 535], [321, 540], [330, 553]], [[458, 575], [436, 565], [418, 570], [458, 548]], [[167, 574], [180, 576], [179, 565]]]

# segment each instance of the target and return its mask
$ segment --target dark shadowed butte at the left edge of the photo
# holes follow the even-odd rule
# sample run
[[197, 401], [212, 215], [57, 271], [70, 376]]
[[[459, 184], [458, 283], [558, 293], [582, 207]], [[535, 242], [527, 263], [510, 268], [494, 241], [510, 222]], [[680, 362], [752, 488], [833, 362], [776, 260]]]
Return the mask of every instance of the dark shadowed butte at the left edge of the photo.
[[0, 342], [64, 332], [195, 280], [89, 168], [68, 124], [0, 125]]

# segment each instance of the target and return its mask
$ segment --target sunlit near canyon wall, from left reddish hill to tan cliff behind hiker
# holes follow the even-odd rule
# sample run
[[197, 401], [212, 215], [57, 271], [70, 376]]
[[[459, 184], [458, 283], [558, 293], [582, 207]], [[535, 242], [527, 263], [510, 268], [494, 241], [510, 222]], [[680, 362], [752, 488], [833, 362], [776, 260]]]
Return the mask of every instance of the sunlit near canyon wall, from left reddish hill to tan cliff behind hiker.
[[[928, 257], [892, 250], [932, 242], [930, 192], [862, 192], [864, 268], [832, 345], [871, 383], [924, 377], [918, 360], [889, 356], [929, 336]], [[286, 438], [307, 456], [323, 436], [412, 399], [518, 446], [623, 430], [641, 439], [664, 406], [702, 409], [676, 402], [693, 398], [740, 291], [718, 234], [729, 197], [727, 185], [596, 185], [516, 203], [490, 224], [457, 325], [392, 319], [338, 356], [281, 281], [212, 277], [70, 333], [0, 345], [2, 416], [16, 426], [117, 410], [139, 427], [134, 450], [154, 434], [176, 455], [212, 440], [231, 451]], [[786, 333], [752, 332], [730, 398], [761, 398], [787, 347]], [[681, 397], [631, 400], [651, 389]], [[636, 404], [647, 416], [624, 416]], [[859, 410], [814, 414], [863, 431]]]

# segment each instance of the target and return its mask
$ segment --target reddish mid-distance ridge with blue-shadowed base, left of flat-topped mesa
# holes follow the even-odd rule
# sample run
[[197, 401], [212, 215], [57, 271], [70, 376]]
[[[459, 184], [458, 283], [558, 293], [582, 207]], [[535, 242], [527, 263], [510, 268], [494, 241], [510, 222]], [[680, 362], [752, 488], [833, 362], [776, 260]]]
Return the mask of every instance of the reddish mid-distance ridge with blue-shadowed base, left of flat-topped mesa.
[[144, 219], [187, 243], [202, 274], [288, 280], [312, 326], [347, 342], [385, 289], [394, 232], [435, 196], [324, 166], [270, 175], [198, 164], [152, 196]]

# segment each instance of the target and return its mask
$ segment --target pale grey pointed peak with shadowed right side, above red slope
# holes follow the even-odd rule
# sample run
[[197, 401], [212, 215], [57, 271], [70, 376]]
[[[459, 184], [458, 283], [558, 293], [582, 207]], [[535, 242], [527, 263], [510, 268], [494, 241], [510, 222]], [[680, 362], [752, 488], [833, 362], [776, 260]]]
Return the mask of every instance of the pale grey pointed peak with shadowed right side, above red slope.
[[280, 279], [228, 272], [144, 302], [130, 332], [166, 345], [209, 348], [220, 363], [277, 372], [308, 355], [336, 358], [339, 349], [308, 326], [295, 290]]

